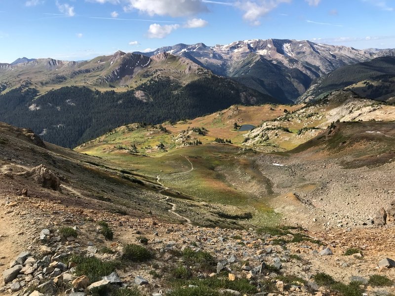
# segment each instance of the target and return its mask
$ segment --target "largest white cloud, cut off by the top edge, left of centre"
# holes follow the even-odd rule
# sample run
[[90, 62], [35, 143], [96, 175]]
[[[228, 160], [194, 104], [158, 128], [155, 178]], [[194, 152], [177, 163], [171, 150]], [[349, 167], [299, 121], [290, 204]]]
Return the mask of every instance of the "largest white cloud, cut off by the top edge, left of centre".
[[124, 11], [136, 9], [150, 16], [157, 14], [180, 17], [208, 11], [201, 0], [128, 0], [128, 2], [123, 8]]

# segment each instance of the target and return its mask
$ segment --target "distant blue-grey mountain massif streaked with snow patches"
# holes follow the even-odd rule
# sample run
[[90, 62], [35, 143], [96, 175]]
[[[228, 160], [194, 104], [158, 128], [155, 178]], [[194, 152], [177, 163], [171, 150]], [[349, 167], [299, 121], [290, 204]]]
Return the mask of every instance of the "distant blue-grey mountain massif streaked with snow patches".
[[295, 100], [313, 80], [341, 66], [395, 55], [393, 49], [358, 50], [289, 39], [252, 39], [215, 46], [181, 43], [143, 54], [162, 52], [188, 58], [214, 74], [288, 100]]

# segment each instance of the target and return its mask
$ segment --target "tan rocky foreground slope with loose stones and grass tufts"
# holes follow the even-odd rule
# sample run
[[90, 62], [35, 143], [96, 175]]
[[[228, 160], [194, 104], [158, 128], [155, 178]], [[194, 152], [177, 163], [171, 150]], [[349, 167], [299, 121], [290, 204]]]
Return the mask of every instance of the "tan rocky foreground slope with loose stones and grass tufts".
[[387, 259], [395, 258], [393, 226], [204, 228], [48, 203], [28, 192], [1, 194], [0, 212], [1, 295], [395, 292], [395, 262]]

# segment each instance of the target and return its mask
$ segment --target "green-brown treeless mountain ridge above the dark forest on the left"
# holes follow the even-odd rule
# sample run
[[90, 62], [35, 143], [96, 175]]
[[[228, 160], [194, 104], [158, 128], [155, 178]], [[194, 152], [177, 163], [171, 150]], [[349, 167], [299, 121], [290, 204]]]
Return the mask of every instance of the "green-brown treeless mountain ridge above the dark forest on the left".
[[70, 84], [98, 90], [118, 88], [119, 92], [124, 92], [158, 75], [185, 85], [211, 72], [189, 59], [167, 53], [147, 57], [118, 51], [82, 62], [54, 59], [23, 62], [21, 59], [16, 64], [0, 64], [0, 92], [22, 85], [45, 93]]

